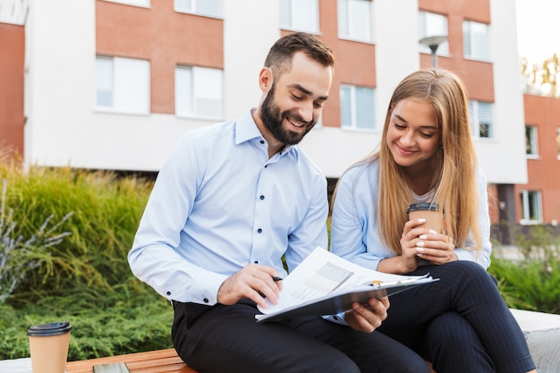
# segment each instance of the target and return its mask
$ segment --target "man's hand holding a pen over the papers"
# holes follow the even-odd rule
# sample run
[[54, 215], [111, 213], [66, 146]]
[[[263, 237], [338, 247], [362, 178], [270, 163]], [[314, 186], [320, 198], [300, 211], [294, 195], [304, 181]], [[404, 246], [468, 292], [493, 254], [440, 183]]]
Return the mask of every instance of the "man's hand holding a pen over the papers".
[[267, 307], [266, 297], [276, 304], [282, 290], [282, 282], [273, 279], [276, 276], [278, 274], [273, 267], [250, 264], [225, 279], [217, 291], [217, 301], [229, 306], [247, 298]]

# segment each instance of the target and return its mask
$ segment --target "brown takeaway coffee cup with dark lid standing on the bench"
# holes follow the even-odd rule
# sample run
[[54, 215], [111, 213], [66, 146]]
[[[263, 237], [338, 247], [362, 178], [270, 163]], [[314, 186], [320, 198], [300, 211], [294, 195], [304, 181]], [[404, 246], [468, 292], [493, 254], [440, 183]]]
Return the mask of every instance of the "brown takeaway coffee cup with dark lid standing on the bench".
[[64, 373], [72, 326], [68, 321], [31, 326], [31, 368], [33, 373]]

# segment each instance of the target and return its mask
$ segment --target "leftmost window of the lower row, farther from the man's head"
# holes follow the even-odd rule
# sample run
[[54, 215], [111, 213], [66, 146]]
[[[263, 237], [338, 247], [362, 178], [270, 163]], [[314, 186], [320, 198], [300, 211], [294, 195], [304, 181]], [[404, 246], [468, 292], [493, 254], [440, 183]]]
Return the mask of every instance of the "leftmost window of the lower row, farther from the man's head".
[[98, 56], [96, 105], [98, 109], [104, 111], [148, 114], [148, 61]]

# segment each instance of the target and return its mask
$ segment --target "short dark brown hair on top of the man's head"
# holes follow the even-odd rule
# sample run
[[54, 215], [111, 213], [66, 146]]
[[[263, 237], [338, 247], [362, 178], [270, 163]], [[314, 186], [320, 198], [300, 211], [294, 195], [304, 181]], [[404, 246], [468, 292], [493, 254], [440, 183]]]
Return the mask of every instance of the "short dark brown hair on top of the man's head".
[[292, 69], [292, 57], [296, 52], [317, 61], [323, 66], [334, 66], [335, 55], [318, 38], [306, 32], [294, 32], [276, 40], [270, 47], [265, 66], [272, 70], [275, 77]]

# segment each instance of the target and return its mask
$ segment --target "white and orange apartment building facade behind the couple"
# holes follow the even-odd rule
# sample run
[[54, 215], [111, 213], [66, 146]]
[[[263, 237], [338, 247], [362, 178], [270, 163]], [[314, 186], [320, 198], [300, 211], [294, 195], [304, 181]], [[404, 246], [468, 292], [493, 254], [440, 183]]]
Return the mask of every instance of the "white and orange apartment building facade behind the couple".
[[157, 172], [182, 132], [255, 106], [268, 48], [303, 30], [337, 57], [321, 123], [301, 142], [332, 185], [378, 147], [398, 81], [433, 64], [420, 39], [443, 36], [436, 62], [467, 86], [495, 222], [514, 219], [514, 185], [528, 182], [515, 19], [510, 0], [0, 0], [0, 21], [25, 29], [13, 110], [35, 165]]

